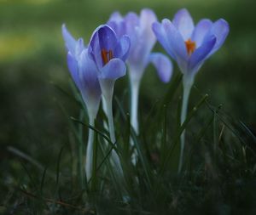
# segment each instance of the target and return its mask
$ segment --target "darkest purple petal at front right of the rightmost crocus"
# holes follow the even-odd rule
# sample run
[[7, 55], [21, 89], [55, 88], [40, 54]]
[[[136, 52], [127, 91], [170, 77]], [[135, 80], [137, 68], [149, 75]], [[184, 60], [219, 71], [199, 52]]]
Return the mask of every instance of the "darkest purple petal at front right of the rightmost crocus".
[[189, 71], [197, 72], [197, 69], [200, 68], [203, 61], [207, 59], [207, 55], [212, 51], [215, 43], [216, 37], [208, 37], [207, 41], [203, 42], [200, 48], [195, 49], [195, 52], [189, 59]]

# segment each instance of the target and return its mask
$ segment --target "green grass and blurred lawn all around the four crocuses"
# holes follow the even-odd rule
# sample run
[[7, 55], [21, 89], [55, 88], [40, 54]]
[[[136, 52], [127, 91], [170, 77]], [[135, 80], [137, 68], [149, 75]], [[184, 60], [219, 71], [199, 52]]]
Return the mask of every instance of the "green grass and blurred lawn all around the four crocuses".
[[[0, 1], [0, 214], [255, 214], [253, 6], [238, 0]], [[88, 42], [114, 10], [143, 7], [153, 8], [160, 20], [183, 7], [195, 21], [223, 17], [230, 35], [195, 79], [183, 173], [177, 175], [181, 86], [178, 78], [160, 83], [148, 66], [139, 137], [129, 122], [127, 77], [116, 82], [113, 106], [126, 184], [111, 173], [100, 112], [96, 177], [89, 189], [79, 160], [86, 114], [67, 71], [61, 24]], [[164, 53], [159, 44], [155, 50]], [[140, 152], [137, 167], [130, 162], [130, 136]], [[120, 194], [124, 187], [128, 203]]]

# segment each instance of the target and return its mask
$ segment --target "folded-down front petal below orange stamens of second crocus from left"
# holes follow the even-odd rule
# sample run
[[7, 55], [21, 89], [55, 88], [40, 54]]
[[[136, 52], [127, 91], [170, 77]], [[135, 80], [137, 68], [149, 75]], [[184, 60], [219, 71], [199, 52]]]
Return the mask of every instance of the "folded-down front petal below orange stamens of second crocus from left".
[[121, 76], [125, 76], [126, 66], [121, 59], [111, 59], [107, 65], [102, 67], [101, 74], [98, 76], [101, 79], [116, 80]]

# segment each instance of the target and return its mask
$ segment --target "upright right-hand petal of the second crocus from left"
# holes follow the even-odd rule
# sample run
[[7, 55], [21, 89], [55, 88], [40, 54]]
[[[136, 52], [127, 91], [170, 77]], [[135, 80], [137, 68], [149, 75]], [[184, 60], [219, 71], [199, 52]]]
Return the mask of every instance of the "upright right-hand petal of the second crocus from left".
[[130, 38], [126, 35], [120, 37], [118, 45], [113, 50], [113, 57], [119, 58], [125, 61], [128, 57], [129, 50], [131, 47]]

